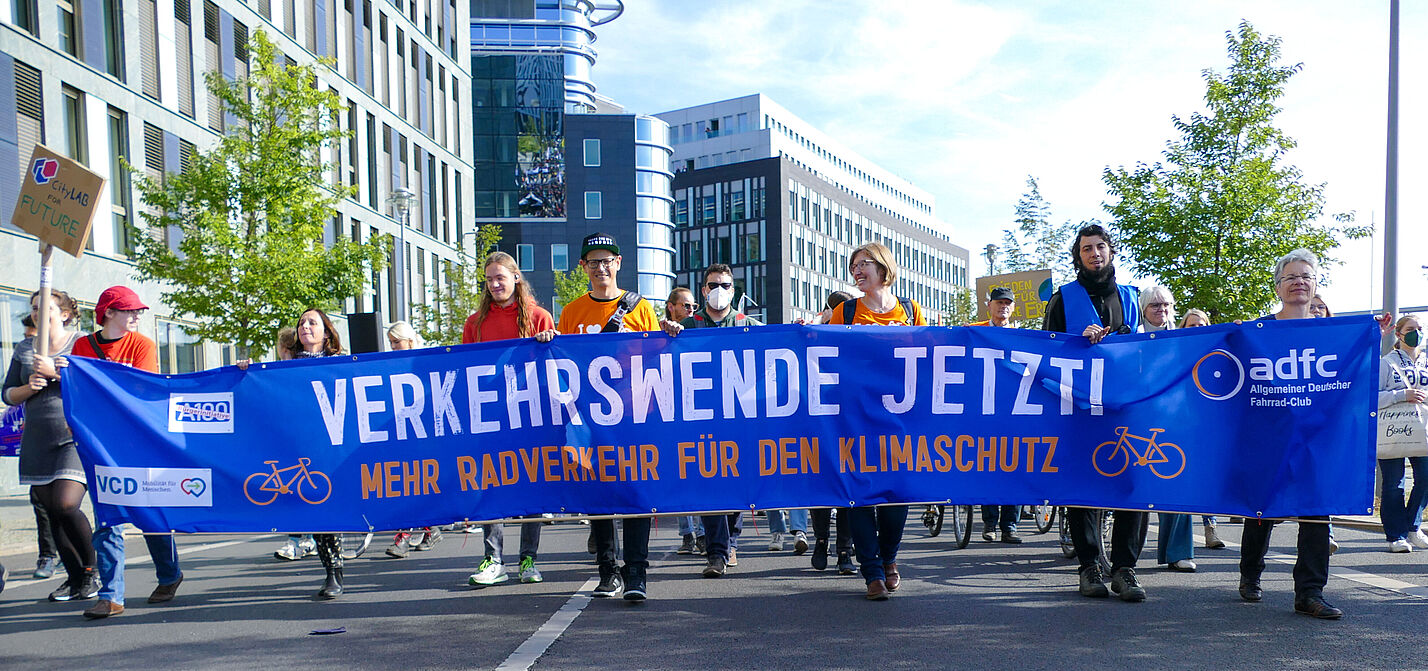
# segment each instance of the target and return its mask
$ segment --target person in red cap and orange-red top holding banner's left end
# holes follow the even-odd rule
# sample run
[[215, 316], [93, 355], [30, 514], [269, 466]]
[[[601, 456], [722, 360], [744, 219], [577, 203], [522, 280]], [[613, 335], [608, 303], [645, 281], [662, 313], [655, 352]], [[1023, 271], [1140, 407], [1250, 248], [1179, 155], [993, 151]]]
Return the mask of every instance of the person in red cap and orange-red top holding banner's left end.
[[[74, 357], [91, 357], [159, 373], [159, 348], [139, 333], [139, 317], [149, 306], [129, 287], [109, 287], [94, 303], [94, 323], [100, 330], [74, 343]], [[159, 587], [149, 595], [150, 604], [174, 598], [183, 571], [178, 570], [178, 550], [171, 535], [144, 534], [149, 555], [154, 560]], [[124, 612], [124, 531], [120, 527], [100, 527], [94, 531], [94, 551], [101, 582], [99, 602], [84, 611], [90, 620]]]

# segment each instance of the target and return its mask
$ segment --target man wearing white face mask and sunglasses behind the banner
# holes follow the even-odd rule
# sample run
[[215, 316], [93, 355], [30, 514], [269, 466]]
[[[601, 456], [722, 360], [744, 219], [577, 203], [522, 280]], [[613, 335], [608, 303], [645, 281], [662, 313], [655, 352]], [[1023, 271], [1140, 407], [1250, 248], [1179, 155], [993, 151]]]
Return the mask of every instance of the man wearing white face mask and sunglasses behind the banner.
[[[664, 327], [664, 333], [678, 336], [685, 328], [764, 326], [763, 321], [734, 311], [734, 273], [728, 266], [723, 263], [710, 266], [704, 271], [704, 286], [700, 287], [700, 293], [704, 294], [704, 306], [678, 324], [663, 321], [660, 326]], [[770, 511], [770, 524], [775, 514], [783, 515], [781, 511]], [[708, 561], [703, 571], [705, 578], [718, 578], [724, 575], [725, 567], [738, 565], [738, 534], [743, 531], [740, 518], [738, 513], [703, 517], [704, 543], [708, 548]], [[804, 528], [800, 530], [800, 535], [808, 528], [807, 520], [808, 515], [804, 513]], [[798, 527], [798, 517], [794, 517], [794, 527]], [[807, 550], [808, 541], [803, 541], [803, 547]]]

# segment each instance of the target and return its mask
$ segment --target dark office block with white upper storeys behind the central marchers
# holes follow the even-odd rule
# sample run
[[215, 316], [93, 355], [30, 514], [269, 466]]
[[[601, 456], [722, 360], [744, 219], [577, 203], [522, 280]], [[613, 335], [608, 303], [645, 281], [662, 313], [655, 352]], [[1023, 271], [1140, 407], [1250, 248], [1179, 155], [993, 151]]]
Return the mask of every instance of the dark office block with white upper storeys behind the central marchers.
[[894, 291], [940, 320], [968, 283], [927, 191], [858, 156], [765, 96], [657, 114], [674, 146], [677, 280], [695, 287], [713, 263], [734, 268], [743, 308], [770, 323], [811, 318], [851, 287], [860, 244], [892, 250]]

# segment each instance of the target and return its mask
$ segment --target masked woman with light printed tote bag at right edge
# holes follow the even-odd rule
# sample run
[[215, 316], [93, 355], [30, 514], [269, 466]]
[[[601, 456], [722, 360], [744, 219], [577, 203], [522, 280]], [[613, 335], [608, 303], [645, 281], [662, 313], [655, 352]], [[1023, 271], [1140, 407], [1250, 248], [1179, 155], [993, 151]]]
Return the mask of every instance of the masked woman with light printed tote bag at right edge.
[[[1428, 494], [1428, 440], [1424, 437], [1424, 401], [1428, 400], [1428, 355], [1417, 314], [1394, 324], [1397, 347], [1384, 355], [1378, 373], [1378, 470], [1382, 474], [1378, 517], [1384, 521], [1389, 553], [1428, 548], [1422, 523]], [[1404, 503], [1404, 460], [1414, 470], [1414, 488]]]

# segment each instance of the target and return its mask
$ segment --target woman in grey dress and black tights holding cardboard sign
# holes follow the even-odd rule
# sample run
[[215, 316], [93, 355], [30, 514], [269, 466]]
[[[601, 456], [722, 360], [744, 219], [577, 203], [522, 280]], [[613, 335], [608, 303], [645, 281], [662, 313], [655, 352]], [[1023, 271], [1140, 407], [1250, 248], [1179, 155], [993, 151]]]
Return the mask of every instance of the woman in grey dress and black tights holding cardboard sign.
[[[50, 592], [50, 601], [90, 600], [99, 594], [94, 538], [90, 521], [80, 510], [87, 478], [74, 447], [74, 434], [64, 420], [60, 397], [63, 361], [79, 333], [66, 327], [79, 317], [79, 307], [69, 294], [50, 290], [49, 355], [36, 351], [36, 338], [26, 338], [10, 357], [0, 394], [10, 405], [24, 404], [24, 434], [20, 437], [20, 484], [30, 485], [50, 517], [50, 531], [60, 551], [67, 580]], [[30, 296], [30, 318], [40, 323], [40, 293]]]

